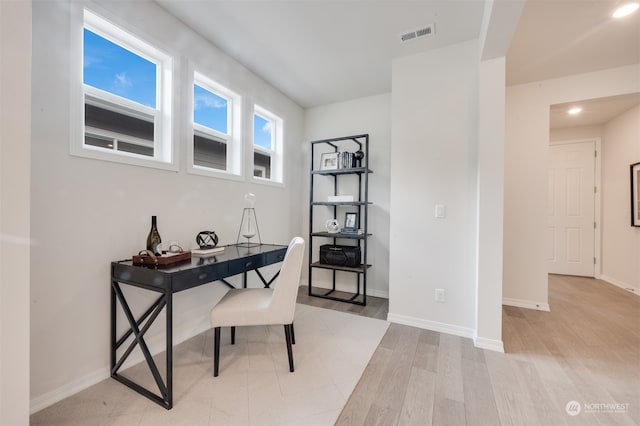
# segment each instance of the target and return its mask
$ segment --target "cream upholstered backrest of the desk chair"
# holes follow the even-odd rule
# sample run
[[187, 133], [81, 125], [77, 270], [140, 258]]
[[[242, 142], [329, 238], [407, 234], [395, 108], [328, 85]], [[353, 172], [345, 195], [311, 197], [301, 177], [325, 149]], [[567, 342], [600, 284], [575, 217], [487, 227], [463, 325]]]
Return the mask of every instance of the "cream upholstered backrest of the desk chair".
[[276, 324], [291, 324], [293, 322], [303, 260], [304, 240], [301, 237], [294, 237], [284, 256], [269, 306]]

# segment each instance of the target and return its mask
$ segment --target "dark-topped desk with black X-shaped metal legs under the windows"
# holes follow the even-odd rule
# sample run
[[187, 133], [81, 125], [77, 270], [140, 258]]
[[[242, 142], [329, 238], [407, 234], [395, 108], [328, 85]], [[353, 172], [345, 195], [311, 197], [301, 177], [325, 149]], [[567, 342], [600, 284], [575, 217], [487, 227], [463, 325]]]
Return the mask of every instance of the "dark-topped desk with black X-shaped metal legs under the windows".
[[[192, 257], [175, 266], [152, 268], [134, 266], [131, 260], [111, 263], [111, 377], [129, 386], [166, 409], [173, 406], [173, 294], [197, 287], [213, 281], [222, 281], [233, 287], [225, 278], [243, 274], [243, 285], [247, 286], [247, 272], [255, 271], [265, 287], [269, 287], [278, 276], [276, 273], [267, 281], [258, 268], [282, 262], [287, 246], [261, 244], [246, 248], [236, 245], [226, 246], [224, 251], [207, 258]], [[121, 284], [131, 285], [159, 293], [159, 297], [139, 318], [135, 318], [129, 304], [122, 293]], [[120, 303], [130, 328], [120, 337], [116, 337], [116, 300]], [[166, 308], [166, 382], [149, 352], [144, 334], [160, 312]], [[129, 339], [133, 335], [132, 339]], [[128, 346], [117, 358], [117, 350], [125, 343]], [[159, 394], [144, 388], [138, 383], [118, 373], [131, 352], [139, 346], [153, 378], [158, 386]]]

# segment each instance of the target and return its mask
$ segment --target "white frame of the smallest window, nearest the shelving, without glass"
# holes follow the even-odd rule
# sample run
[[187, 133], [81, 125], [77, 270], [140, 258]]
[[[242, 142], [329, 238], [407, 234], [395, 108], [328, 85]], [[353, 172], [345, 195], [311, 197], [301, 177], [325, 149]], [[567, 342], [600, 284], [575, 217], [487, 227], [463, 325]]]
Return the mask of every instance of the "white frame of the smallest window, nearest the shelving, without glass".
[[[259, 116], [263, 120], [271, 122], [271, 149], [265, 148], [255, 143], [255, 116]], [[249, 175], [253, 182], [273, 184], [284, 186], [284, 120], [277, 114], [258, 105], [253, 105], [251, 114], [251, 161]], [[271, 158], [271, 177], [263, 178], [254, 176], [255, 170], [255, 153], [269, 156]]]

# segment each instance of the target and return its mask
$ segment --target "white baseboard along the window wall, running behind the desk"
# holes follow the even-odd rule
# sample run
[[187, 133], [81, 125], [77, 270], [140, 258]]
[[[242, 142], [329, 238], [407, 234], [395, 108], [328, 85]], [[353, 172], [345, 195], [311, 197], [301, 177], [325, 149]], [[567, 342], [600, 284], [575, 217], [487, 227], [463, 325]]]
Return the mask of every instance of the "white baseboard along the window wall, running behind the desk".
[[[174, 346], [179, 345], [185, 340], [190, 339], [193, 336], [196, 336], [210, 328], [208, 321], [202, 321], [199, 324], [196, 324], [195, 327], [193, 327], [193, 324], [191, 325], [191, 327], [188, 327], [187, 324], [183, 324], [183, 327], [180, 327], [181, 330], [176, 330], [174, 324]], [[147, 340], [147, 344], [149, 346], [151, 354], [157, 355], [158, 353], [164, 351], [164, 336], [153, 336], [152, 338]], [[142, 361], [144, 361], [144, 356], [142, 355], [142, 353], [136, 353], [131, 355], [131, 357], [127, 359], [126, 365], [134, 365]], [[72, 380], [71, 382], [65, 383], [64, 385], [56, 389], [32, 398], [31, 401], [29, 401], [29, 414], [37, 413], [38, 411], [43, 410], [55, 404], [56, 402], [62, 401], [63, 399], [68, 398], [71, 395], [83, 391], [88, 387], [103, 381], [104, 379], [108, 379], [109, 377], [111, 377], [111, 369], [109, 368], [109, 366], [105, 366], [75, 380]]]

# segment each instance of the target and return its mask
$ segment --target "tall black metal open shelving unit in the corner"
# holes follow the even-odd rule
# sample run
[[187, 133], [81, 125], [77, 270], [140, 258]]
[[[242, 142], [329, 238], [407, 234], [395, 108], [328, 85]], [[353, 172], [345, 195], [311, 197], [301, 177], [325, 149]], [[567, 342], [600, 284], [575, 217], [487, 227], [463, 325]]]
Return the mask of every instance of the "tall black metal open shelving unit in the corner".
[[[318, 155], [326, 152], [356, 152], [362, 151], [364, 158], [357, 167], [338, 168], [333, 170], [320, 169]], [[368, 240], [371, 237], [369, 233], [369, 135], [344, 136], [332, 139], [322, 139], [311, 142], [311, 173], [310, 173], [310, 190], [309, 190], [309, 296], [321, 297], [325, 299], [338, 300], [341, 302], [353, 303], [356, 305], [367, 304], [367, 274], [371, 267], [367, 263]], [[353, 201], [320, 201], [315, 200], [314, 187], [316, 179], [332, 179], [333, 195], [337, 195], [339, 185], [345, 176], [357, 177], [357, 188], [353, 188], [357, 192], [357, 198], [354, 194]], [[351, 182], [354, 186], [355, 183]], [[349, 208], [356, 209], [358, 212], [358, 228], [362, 230], [362, 234], [352, 235], [343, 233], [330, 233], [318, 231], [315, 224], [314, 227], [314, 209], [329, 208], [333, 210], [333, 217], [338, 218], [339, 210]], [[324, 224], [322, 225], [324, 226]], [[340, 240], [340, 241], [339, 241]], [[357, 245], [360, 247], [362, 258], [361, 263], [355, 267], [338, 266], [320, 263], [318, 249], [320, 244], [331, 242], [331, 244]], [[316, 269], [330, 270], [332, 273], [332, 287], [330, 289], [324, 287], [314, 287], [313, 272]], [[336, 278], [338, 273], [350, 273], [355, 277], [355, 291], [347, 292], [336, 288]], [[346, 296], [343, 296], [346, 295]]]

